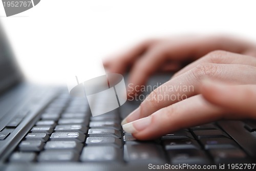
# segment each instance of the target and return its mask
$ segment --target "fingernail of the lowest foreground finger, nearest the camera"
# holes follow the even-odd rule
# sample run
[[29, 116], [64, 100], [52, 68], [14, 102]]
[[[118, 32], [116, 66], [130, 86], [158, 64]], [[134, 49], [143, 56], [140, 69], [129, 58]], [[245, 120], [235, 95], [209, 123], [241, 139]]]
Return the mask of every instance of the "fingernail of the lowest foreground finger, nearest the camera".
[[126, 133], [130, 133], [130, 134], [138, 133], [139, 131], [144, 130], [147, 126], [150, 125], [151, 119], [152, 117], [148, 116], [130, 123], [126, 123], [123, 125], [123, 130]]

